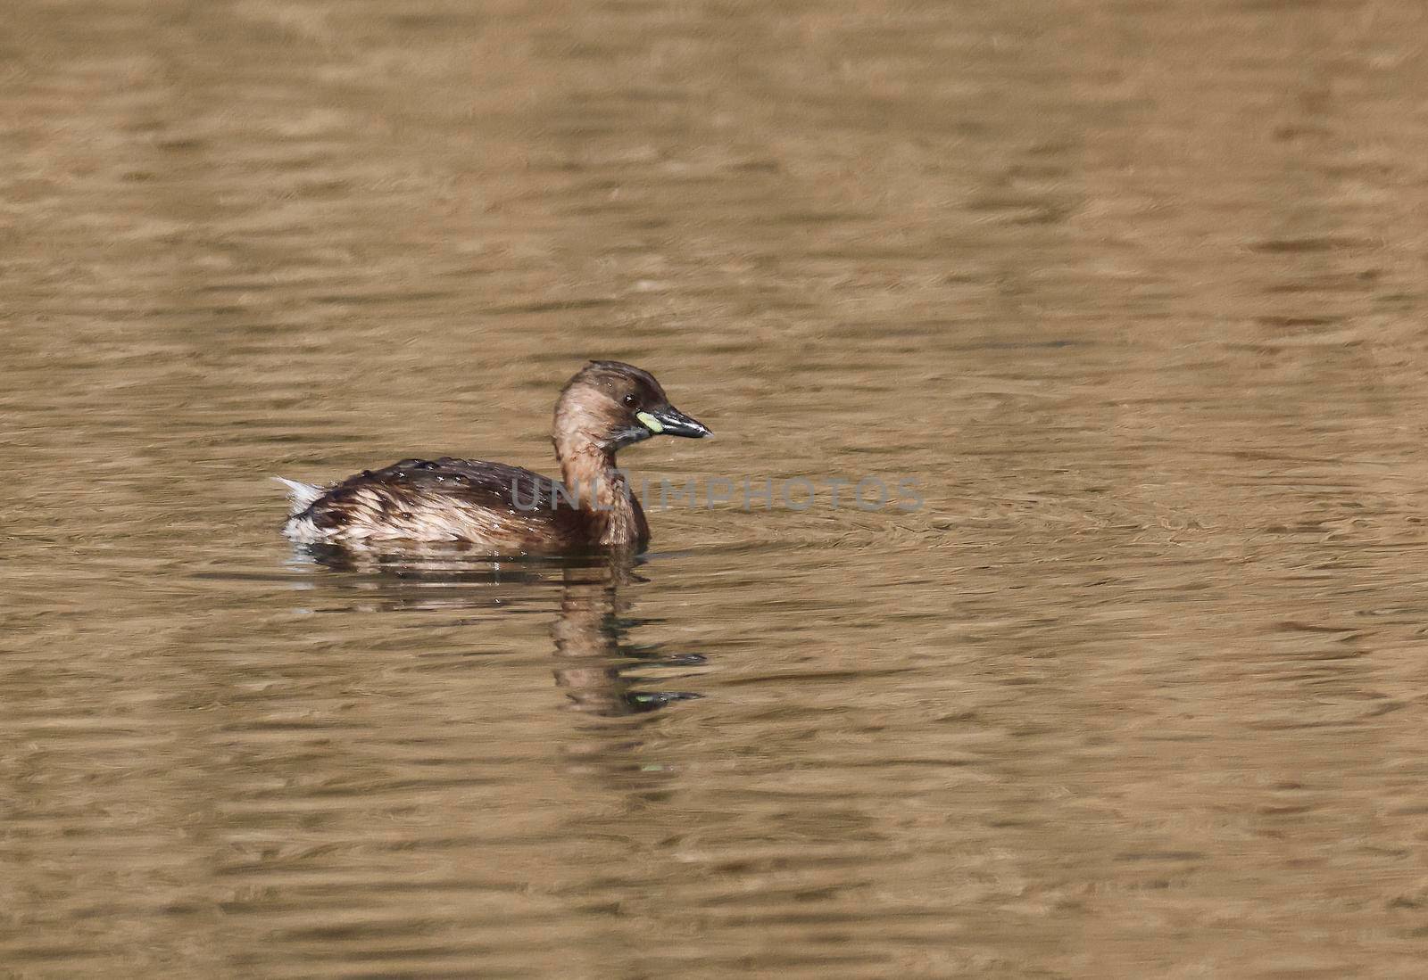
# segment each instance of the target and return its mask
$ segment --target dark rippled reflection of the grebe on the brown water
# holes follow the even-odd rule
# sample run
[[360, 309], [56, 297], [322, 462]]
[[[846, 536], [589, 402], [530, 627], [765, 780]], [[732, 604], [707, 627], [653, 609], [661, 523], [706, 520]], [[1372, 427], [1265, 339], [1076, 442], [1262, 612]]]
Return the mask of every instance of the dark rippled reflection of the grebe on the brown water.
[[[648, 622], [630, 618], [621, 589], [645, 582], [637, 559], [621, 553], [593, 553], [564, 559], [491, 561], [450, 546], [408, 545], [381, 551], [353, 546], [303, 545], [297, 555], [334, 572], [358, 573], [354, 583], [376, 592], [360, 603], [367, 609], [528, 608], [530, 592], [560, 583], [560, 606], [551, 628], [555, 645], [555, 683], [575, 710], [603, 718], [640, 715], [691, 700], [687, 690], [641, 688], [648, 669], [698, 668], [698, 653], [665, 655], [660, 646], [628, 640], [631, 629]], [[446, 588], [443, 588], [446, 586]], [[493, 595], [491, 588], [500, 588]], [[527, 595], [513, 596], [510, 586]], [[366, 598], [366, 596], [364, 596]], [[526, 602], [523, 602], [526, 599]], [[490, 623], [483, 618], [481, 623]]]

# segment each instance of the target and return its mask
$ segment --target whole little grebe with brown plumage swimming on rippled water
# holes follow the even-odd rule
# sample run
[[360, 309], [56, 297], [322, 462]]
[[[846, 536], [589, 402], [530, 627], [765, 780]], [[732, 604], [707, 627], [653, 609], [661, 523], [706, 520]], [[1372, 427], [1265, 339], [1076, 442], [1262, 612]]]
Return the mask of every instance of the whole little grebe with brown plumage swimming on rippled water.
[[653, 435], [711, 432], [680, 412], [653, 375], [591, 361], [560, 392], [553, 441], [564, 482], [478, 459], [403, 459], [328, 488], [283, 479], [293, 514], [283, 532], [304, 543], [470, 542], [490, 553], [643, 551], [650, 525], [615, 452]]

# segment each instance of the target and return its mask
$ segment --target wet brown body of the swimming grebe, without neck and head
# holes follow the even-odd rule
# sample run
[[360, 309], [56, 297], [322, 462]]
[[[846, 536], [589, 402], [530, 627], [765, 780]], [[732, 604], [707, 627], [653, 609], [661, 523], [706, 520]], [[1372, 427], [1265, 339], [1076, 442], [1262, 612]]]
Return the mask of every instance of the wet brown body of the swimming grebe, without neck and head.
[[[284, 532], [306, 543], [466, 541], [493, 553], [558, 552], [595, 543], [590, 519], [558, 481], [478, 459], [403, 459], [328, 488]], [[595, 532], [598, 535], [598, 532]]]

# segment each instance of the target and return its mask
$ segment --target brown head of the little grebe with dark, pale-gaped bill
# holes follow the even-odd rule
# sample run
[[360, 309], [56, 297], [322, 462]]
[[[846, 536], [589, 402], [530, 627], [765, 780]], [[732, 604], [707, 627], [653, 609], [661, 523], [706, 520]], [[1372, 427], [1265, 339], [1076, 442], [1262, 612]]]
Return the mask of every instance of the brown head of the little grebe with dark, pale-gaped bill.
[[561, 454], [584, 446], [614, 452], [651, 435], [703, 439], [714, 434], [671, 405], [654, 375], [620, 361], [591, 361], [555, 402]]

